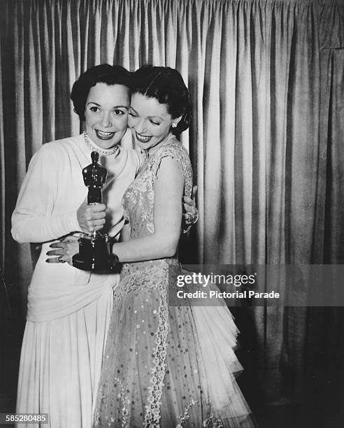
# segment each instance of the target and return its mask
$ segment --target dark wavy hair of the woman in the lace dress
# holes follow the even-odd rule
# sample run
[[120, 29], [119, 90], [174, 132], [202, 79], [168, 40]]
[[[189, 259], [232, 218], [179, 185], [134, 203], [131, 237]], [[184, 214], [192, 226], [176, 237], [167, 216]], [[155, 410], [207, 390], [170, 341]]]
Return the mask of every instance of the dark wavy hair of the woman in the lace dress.
[[143, 94], [155, 98], [160, 104], [166, 104], [173, 119], [182, 117], [171, 132], [180, 135], [189, 127], [191, 104], [189, 91], [179, 71], [170, 67], [144, 65], [132, 74], [131, 94]]

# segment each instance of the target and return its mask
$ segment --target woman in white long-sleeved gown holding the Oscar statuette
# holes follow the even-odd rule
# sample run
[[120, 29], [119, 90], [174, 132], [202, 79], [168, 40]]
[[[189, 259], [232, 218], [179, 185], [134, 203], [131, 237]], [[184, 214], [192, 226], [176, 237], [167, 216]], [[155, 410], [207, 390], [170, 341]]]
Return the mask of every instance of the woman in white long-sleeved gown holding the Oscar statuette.
[[[92, 425], [118, 275], [64, 263], [69, 250], [61, 240], [103, 228], [115, 237], [122, 228], [122, 196], [141, 165], [138, 152], [119, 145], [127, 131], [129, 87], [130, 73], [120, 66], [102, 64], [80, 76], [71, 98], [86, 131], [36, 152], [13, 212], [13, 238], [43, 243], [29, 286], [16, 411], [48, 413], [53, 428]], [[108, 171], [106, 205], [87, 206], [82, 169], [94, 150]], [[47, 253], [59, 257], [47, 263]]]

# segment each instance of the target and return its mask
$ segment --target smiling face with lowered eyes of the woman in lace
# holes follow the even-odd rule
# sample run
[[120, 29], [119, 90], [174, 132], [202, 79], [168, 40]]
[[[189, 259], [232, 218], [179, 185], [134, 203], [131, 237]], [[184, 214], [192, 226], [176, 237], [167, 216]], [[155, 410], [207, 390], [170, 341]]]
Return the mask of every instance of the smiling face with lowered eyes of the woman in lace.
[[168, 106], [157, 99], [139, 93], [131, 96], [128, 125], [139, 148], [149, 149], [162, 143], [171, 124], [178, 121], [170, 115]]

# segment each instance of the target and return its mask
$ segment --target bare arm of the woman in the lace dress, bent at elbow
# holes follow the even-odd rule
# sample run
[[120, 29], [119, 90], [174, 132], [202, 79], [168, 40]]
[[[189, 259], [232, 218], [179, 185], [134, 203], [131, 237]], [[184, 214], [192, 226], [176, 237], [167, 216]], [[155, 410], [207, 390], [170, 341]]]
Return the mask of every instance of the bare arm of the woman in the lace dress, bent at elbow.
[[155, 232], [113, 245], [120, 262], [172, 257], [178, 248], [182, 220], [184, 173], [179, 162], [164, 157], [157, 173], [154, 200]]

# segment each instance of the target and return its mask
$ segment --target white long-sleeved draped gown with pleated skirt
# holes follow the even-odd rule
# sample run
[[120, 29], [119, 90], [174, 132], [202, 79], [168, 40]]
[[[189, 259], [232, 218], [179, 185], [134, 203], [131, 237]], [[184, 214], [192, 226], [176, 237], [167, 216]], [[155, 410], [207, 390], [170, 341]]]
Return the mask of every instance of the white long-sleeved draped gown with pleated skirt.
[[[87, 196], [82, 169], [92, 150], [83, 134], [44, 144], [31, 159], [12, 217], [18, 242], [43, 242], [29, 286], [17, 413], [49, 413], [52, 428], [91, 427], [103, 348], [119, 276], [48, 264], [49, 245], [79, 231], [76, 210]], [[103, 202], [110, 236], [122, 228], [122, 196], [140, 157], [121, 148], [102, 156], [108, 170]], [[20, 425], [22, 426], [22, 425]], [[38, 425], [28, 425], [28, 427]]]

